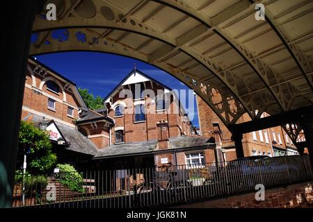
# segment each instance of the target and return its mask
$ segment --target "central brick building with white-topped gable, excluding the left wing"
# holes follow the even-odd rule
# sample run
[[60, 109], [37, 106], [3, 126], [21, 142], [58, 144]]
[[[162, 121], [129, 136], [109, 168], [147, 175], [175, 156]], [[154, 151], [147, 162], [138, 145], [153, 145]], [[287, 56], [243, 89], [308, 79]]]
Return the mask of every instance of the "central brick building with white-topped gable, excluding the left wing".
[[[77, 126], [99, 151], [99, 166], [138, 167], [214, 160], [214, 144], [198, 137], [172, 89], [132, 70]], [[213, 153], [213, 155], [212, 155]]]

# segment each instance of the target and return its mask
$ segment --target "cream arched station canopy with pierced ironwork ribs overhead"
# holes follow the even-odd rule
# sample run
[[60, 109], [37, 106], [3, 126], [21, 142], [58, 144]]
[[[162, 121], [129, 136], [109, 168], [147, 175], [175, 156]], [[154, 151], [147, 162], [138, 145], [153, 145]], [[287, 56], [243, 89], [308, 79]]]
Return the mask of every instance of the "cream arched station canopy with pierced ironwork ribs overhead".
[[[142, 60], [194, 89], [226, 126], [313, 103], [312, 0], [47, 3], [56, 21], [47, 10], [35, 17], [31, 56], [97, 51]], [[259, 3], [264, 20], [255, 17]]]

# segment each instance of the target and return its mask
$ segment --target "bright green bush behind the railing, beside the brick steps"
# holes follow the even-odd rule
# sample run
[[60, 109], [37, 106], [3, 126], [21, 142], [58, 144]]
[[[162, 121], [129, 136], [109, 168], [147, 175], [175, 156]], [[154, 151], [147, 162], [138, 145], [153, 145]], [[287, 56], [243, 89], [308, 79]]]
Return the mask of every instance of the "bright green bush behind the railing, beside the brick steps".
[[60, 169], [59, 178], [61, 184], [72, 191], [83, 192], [83, 176], [70, 164], [56, 165]]

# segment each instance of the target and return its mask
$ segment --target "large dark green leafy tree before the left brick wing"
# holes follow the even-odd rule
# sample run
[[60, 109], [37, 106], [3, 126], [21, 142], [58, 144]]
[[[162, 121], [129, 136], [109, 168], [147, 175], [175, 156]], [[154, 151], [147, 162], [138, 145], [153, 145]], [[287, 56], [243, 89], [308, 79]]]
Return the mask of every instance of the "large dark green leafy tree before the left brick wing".
[[19, 127], [19, 157], [27, 155], [29, 173], [46, 173], [56, 164], [56, 154], [51, 152], [52, 144], [47, 131], [21, 121]]

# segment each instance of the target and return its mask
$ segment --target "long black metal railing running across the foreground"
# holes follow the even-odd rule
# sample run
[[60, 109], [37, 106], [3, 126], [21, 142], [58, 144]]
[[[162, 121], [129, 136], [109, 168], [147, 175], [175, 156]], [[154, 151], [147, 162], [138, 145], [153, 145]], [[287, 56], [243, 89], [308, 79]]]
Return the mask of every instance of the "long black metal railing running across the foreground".
[[312, 180], [308, 155], [141, 169], [17, 175], [13, 207], [147, 207]]

